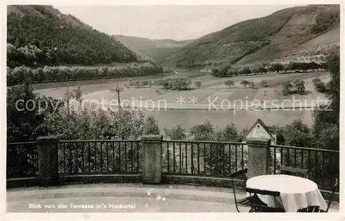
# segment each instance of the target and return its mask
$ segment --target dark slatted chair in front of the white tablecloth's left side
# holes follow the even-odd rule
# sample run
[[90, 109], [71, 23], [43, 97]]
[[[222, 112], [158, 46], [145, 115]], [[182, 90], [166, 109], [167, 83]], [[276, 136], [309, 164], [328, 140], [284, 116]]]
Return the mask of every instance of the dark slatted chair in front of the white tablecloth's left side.
[[254, 196], [268, 195], [268, 196], [273, 196], [273, 198], [275, 199], [275, 207], [267, 207], [266, 205], [250, 202], [253, 211], [255, 212], [283, 212], [284, 211], [284, 209], [277, 208], [277, 197], [280, 196], [280, 192], [263, 190], [263, 189], [252, 189], [248, 187], [245, 187], [244, 189], [246, 189], [246, 192], [249, 193], [250, 196], [252, 196], [252, 194], [254, 194]]

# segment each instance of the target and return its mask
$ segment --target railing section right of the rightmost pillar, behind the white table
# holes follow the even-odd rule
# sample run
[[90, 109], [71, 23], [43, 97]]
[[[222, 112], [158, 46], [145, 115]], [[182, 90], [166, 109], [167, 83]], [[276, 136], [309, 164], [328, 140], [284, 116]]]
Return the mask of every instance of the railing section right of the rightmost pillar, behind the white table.
[[270, 145], [270, 154], [270, 173], [279, 173], [280, 165], [308, 169], [308, 178], [325, 190], [339, 180], [339, 151]]

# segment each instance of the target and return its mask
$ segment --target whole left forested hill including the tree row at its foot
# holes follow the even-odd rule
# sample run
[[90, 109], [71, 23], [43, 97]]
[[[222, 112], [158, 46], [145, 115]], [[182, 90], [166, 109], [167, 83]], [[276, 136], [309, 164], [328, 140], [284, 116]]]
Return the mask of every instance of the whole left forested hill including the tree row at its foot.
[[7, 84], [80, 81], [163, 72], [114, 36], [52, 6], [8, 6]]

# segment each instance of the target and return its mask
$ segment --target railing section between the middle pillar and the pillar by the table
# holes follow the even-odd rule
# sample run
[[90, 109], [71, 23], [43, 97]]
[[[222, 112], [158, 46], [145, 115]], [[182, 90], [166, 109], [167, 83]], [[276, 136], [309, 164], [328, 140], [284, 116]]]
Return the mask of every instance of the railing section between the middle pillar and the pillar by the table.
[[228, 177], [247, 166], [245, 143], [164, 140], [162, 171], [169, 175]]

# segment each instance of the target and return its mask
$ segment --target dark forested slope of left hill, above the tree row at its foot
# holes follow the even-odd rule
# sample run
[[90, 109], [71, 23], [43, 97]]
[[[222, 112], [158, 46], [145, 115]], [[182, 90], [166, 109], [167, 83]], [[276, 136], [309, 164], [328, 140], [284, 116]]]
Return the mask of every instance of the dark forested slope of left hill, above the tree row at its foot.
[[52, 6], [8, 6], [8, 67], [136, 62], [113, 36]]

